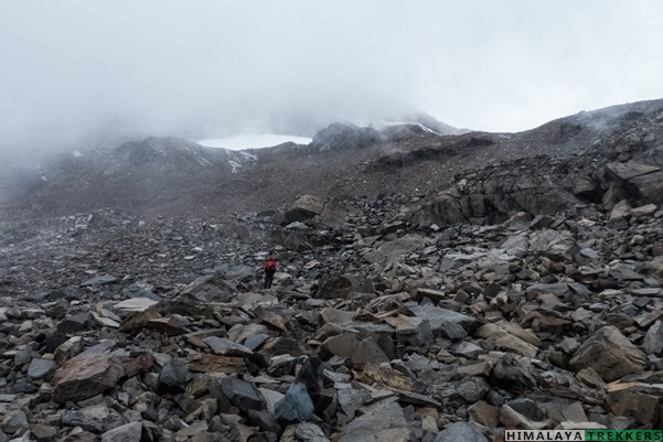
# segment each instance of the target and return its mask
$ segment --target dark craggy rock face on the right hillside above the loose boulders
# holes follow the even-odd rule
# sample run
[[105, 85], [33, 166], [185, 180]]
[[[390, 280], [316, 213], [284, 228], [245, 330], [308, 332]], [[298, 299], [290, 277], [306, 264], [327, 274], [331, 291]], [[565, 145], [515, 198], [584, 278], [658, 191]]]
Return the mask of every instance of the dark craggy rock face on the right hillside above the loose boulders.
[[614, 134], [570, 158], [501, 162], [456, 182], [411, 211], [419, 224], [496, 223], [517, 212], [552, 215], [576, 204], [611, 211], [663, 202], [663, 107], [629, 114]]

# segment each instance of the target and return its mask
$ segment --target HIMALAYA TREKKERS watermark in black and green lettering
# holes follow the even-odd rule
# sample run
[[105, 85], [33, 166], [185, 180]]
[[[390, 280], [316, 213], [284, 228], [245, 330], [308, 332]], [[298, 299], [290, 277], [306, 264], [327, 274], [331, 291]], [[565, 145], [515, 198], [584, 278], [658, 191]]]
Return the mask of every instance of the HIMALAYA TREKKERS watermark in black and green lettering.
[[506, 430], [504, 441], [654, 442], [663, 441], [663, 430]]

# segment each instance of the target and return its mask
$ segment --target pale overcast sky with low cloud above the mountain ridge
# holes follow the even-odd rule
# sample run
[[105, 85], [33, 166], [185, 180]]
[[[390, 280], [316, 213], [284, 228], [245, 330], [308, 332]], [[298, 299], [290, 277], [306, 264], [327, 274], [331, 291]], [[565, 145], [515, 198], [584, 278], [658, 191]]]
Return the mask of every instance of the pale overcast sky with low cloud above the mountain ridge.
[[0, 0], [0, 144], [663, 97], [661, 0]]

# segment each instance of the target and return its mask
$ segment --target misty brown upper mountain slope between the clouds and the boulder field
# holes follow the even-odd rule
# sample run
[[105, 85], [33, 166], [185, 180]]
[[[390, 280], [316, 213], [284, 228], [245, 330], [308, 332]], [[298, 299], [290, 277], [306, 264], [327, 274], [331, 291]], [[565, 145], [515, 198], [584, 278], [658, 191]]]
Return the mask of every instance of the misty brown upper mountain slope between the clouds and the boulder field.
[[[513, 166], [528, 168], [524, 159], [537, 158], [533, 168], [544, 173], [547, 159], [586, 151], [602, 158], [616, 137], [653, 118], [662, 105], [652, 100], [613, 106], [518, 133], [441, 136], [420, 123], [381, 130], [334, 123], [309, 145], [285, 143], [247, 151], [148, 138], [60, 155], [23, 173], [18, 184], [15, 180], [10, 183], [7, 174], [0, 187], [12, 188], [3, 201], [6, 211], [23, 214], [67, 214], [95, 207], [227, 214], [274, 209], [307, 193], [321, 198], [424, 196], [448, 187], [458, 174], [490, 165], [501, 164], [500, 170], [520, 161]], [[591, 161], [586, 163], [589, 166]]]

